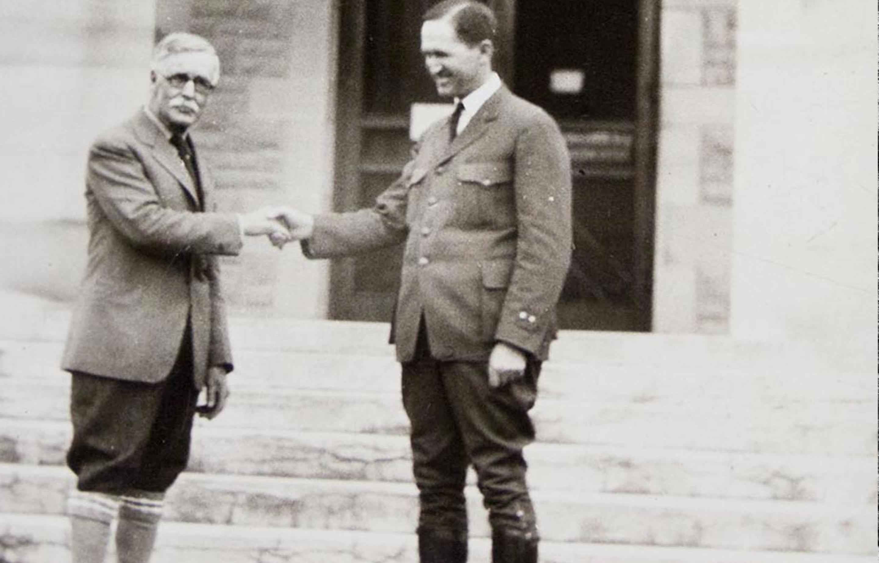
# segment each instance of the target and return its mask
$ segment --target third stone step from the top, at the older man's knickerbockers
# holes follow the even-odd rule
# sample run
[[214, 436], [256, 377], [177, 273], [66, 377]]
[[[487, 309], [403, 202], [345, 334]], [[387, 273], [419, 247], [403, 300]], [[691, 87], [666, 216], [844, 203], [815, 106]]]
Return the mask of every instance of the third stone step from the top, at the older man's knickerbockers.
[[[405, 435], [399, 392], [234, 390], [212, 424], [254, 429], [325, 430]], [[4, 382], [0, 416], [67, 420], [69, 378]], [[541, 398], [532, 411], [541, 442], [656, 446], [703, 451], [872, 455], [873, 408], [823, 404], [724, 405], [702, 401], [615, 402]]]

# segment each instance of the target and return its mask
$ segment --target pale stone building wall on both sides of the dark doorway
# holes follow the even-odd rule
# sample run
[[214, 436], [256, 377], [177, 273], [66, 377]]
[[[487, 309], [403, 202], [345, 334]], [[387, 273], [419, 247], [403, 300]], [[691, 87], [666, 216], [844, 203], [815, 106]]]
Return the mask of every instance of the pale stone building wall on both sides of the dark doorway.
[[[76, 234], [84, 219], [82, 177], [91, 138], [142, 104], [151, 46], [156, 37], [181, 30], [212, 40], [222, 60], [222, 86], [199, 132], [222, 206], [331, 209], [338, 48], [345, 33], [339, 2], [0, 3], [0, 126], [20, 132], [0, 141], [0, 184], [9, 195], [0, 223], [62, 220]], [[858, 74], [865, 63], [875, 67], [875, 5], [658, 5], [653, 330], [785, 336], [825, 324], [805, 309], [841, 329], [875, 328], [863, 313], [875, 290], [875, 89], [872, 71]], [[806, 89], [803, 73], [815, 81]], [[832, 89], [840, 84], [842, 105]], [[766, 108], [774, 113], [761, 113]], [[820, 119], [800, 119], [798, 112], [809, 108], [820, 109]], [[774, 128], [766, 130], [770, 122]], [[804, 134], [804, 123], [828, 127], [827, 134]], [[763, 150], [754, 152], [755, 146]], [[773, 152], [774, 160], [765, 158]], [[788, 155], [800, 167], [788, 174], [795, 186], [783, 185]], [[49, 161], [52, 166], [42, 164]], [[754, 191], [764, 177], [782, 182], [768, 198]], [[817, 203], [803, 205], [809, 198]], [[792, 208], [806, 213], [797, 225], [824, 226], [831, 235], [788, 228]], [[75, 278], [55, 283], [74, 287]], [[279, 253], [249, 241], [241, 256], [226, 261], [226, 278], [236, 314], [327, 314], [329, 267], [298, 251]], [[790, 284], [797, 291], [789, 291]]]

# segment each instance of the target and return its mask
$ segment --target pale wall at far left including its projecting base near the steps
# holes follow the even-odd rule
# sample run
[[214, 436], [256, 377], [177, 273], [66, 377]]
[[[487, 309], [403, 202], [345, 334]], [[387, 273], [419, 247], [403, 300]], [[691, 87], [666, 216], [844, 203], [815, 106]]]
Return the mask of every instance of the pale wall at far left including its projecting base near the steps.
[[86, 154], [143, 104], [154, 28], [149, 2], [0, 0], [0, 293], [12, 300], [75, 299]]

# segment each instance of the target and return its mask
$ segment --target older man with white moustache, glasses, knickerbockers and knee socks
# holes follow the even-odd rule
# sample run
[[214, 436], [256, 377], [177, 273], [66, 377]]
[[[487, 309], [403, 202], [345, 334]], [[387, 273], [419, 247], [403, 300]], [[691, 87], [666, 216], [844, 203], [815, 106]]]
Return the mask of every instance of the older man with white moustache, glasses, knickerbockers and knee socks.
[[[282, 235], [269, 212], [217, 213], [189, 128], [220, 78], [214, 47], [156, 46], [147, 105], [91, 147], [89, 259], [63, 368], [74, 427], [68, 511], [74, 563], [101, 563], [118, 518], [120, 563], [149, 560], [163, 495], [189, 456], [196, 411], [213, 418], [232, 370], [215, 255]], [[201, 389], [207, 403], [196, 406]]]

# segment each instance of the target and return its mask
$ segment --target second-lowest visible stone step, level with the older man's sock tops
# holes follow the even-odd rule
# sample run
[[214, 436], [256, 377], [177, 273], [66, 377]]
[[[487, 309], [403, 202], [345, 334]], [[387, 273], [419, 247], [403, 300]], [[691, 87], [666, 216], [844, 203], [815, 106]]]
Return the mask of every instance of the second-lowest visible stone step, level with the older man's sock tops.
[[[0, 483], [4, 506], [62, 515], [72, 479], [60, 467], [0, 465]], [[868, 554], [875, 540], [875, 512], [866, 504], [566, 491], [536, 491], [533, 498], [541, 537], [548, 541]], [[489, 537], [475, 487], [469, 487], [468, 500], [472, 535]], [[169, 491], [165, 516], [191, 523], [406, 533], [418, 519], [418, 492], [408, 483], [185, 473]]]

